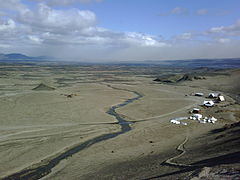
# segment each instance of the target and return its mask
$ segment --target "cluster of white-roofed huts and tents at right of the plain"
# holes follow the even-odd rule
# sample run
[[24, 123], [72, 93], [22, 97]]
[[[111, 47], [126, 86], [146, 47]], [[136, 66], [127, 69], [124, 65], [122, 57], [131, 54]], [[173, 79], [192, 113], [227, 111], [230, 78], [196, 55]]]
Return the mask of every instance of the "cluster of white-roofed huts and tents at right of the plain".
[[[195, 96], [204, 96], [203, 93], [195, 93]], [[224, 96], [222, 96], [220, 93], [210, 93], [208, 95], [208, 98], [211, 100], [204, 100], [202, 106], [205, 107], [213, 107], [215, 103], [219, 103], [222, 101], [225, 101]], [[199, 123], [215, 123], [217, 119], [215, 117], [204, 117], [201, 114], [201, 109], [200, 108], [193, 108], [192, 111], [190, 111], [191, 116], [190, 117], [180, 117], [180, 118], [175, 118], [171, 119], [170, 122], [173, 124], [182, 124], [182, 125], [187, 125], [187, 123], [182, 122], [181, 120], [195, 120], [198, 121]]]

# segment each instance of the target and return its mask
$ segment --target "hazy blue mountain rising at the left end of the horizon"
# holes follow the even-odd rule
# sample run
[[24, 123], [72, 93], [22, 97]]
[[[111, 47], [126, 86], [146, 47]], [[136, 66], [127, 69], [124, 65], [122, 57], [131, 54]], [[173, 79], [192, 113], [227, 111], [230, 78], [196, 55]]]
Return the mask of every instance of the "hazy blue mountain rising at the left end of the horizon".
[[50, 61], [52, 59], [48, 56], [31, 57], [20, 53], [0, 54], [0, 61]]

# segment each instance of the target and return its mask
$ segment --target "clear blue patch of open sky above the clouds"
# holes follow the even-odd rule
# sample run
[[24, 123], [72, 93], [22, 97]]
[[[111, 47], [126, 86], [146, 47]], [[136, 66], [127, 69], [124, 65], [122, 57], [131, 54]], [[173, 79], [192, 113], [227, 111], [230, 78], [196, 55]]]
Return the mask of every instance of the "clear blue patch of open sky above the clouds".
[[[185, 31], [204, 31], [212, 26], [230, 25], [240, 16], [238, 0], [108, 0], [81, 4], [97, 14], [100, 26], [115, 31], [135, 31], [171, 37]], [[166, 15], [174, 8], [186, 8], [187, 15]], [[207, 15], [198, 15], [200, 9]]]

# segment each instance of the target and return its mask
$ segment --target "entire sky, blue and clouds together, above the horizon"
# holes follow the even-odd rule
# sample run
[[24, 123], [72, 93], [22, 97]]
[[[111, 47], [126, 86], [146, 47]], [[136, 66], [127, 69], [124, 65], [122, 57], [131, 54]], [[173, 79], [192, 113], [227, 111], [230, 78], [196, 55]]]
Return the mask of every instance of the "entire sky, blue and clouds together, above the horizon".
[[0, 0], [0, 53], [76, 61], [240, 57], [239, 0]]

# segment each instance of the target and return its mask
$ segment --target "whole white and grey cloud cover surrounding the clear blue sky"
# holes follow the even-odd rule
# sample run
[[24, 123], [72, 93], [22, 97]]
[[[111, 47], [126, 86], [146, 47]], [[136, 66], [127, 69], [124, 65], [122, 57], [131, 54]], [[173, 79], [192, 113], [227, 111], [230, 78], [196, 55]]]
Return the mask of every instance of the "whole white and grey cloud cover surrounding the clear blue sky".
[[[99, 27], [90, 10], [72, 8], [76, 3], [100, 0], [0, 0], [0, 50], [30, 55], [51, 55], [79, 61], [161, 60], [239, 56], [240, 21], [212, 27], [205, 32], [185, 32], [171, 39], [147, 33], [117, 32]], [[55, 8], [55, 7], [67, 8]], [[187, 15], [185, 8], [171, 14]], [[199, 15], [206, 15], [200, 9]], [[226, 47], [227, 45], [227, 47]], [[225, 53], [219, 53], [220, 50]], [[210, 51], [211, 50], [211, 51]], [[228, 50], [228, 51], [226, 51]]]

